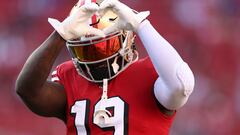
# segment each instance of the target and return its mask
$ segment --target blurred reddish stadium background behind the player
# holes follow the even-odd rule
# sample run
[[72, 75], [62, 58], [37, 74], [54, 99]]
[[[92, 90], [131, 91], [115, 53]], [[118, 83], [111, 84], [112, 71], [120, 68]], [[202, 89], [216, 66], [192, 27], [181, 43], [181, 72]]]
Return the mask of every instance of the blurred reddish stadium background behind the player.
[[[240, 1], [122, 1], [139, 11], [150, 10], [149, 20], [195, 74], [195, 91], [178, 111], [171, 135], [240, 134]], [[26, 58], [53, 31], [47, 18], [63, 20], [74, 3], [0, 1], [0, 135], [65, 134], [61, 121], [30, 112], [14, 83]], [[138, 48], [145, 56], [143, 47]], [[64, 49], [56, 64], [67, 59]]]

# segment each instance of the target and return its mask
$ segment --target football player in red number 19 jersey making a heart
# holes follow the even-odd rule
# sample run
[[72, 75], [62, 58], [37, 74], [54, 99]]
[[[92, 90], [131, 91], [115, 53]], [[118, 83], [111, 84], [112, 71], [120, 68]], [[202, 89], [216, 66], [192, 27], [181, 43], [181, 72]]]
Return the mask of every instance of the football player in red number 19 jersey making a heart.
[[[49, 18], [55, 31], [26, 61], [17, 93], [36, 114], [63, 120], [67, 135], [167, 135], [194, 76], [148, 15], [118, 0], [79, 0], [63, 22]], [[65, 43], [72, 60], [48, 81]]]

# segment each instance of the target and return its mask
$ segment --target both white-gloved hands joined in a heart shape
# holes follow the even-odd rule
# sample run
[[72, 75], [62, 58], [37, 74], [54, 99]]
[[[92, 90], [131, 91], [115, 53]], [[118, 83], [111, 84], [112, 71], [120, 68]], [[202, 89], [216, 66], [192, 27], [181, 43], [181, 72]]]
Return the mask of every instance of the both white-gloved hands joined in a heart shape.
[[[118, 15], [116, 23], [103, 31], [89, 26], [89, 19], [95, 14], [103, 16], [108, 10]], [[75, 6], [74, 11], [63, 22], [49, 18], [48, 22], [65, 39], [72, 40], [84, 35], [105, 37], [117, 30], [137, 31], [139, 24], [149, 15], [149, 11], [135, 13], [134, 10], [118, 0], [104, 0], [100, 6], [89, 3]]]

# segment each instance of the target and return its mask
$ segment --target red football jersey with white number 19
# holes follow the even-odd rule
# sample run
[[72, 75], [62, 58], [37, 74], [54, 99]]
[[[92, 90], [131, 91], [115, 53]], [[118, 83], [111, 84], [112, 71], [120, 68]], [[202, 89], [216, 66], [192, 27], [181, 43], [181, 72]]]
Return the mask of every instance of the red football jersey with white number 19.
[[67, 135], [168, 135], [174, 116], [164, 115], [153, 92], [158, 75], [150, 59], [138, 60], [108, 83], [111, 124], [93, 123], [102, 88], [80, 76], [72, 61], [57, 67], [54, 80], [66, 92]]

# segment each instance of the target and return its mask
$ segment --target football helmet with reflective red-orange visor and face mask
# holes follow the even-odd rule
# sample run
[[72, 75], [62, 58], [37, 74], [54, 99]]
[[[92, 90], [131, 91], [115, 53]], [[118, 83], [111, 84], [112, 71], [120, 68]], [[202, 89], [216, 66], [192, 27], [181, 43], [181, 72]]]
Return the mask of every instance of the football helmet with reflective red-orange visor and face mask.
[[[79, 0], [71, 13], [77, 6], [89, 2], [96, 0]], [[112, 11], [102, 17], [96, 13], [89, 19], [89, 25], [103, 30], [113, 25], [117, 19], [118, 16]], [[66, 45], [77, 72], [87, 80], [98, 83], [103, 82], [103, 79], [113, 79], [138, 59], [134, 38], [132, 31], [121, 30], [108, 33], [105, 38], [85, 35], [68, 40]]]

